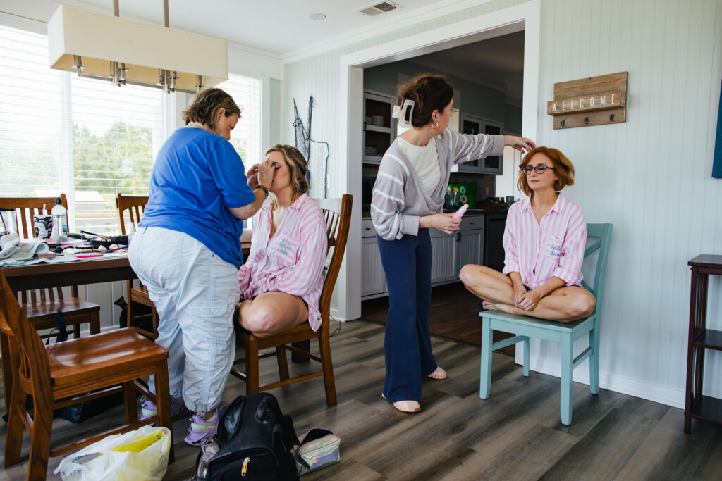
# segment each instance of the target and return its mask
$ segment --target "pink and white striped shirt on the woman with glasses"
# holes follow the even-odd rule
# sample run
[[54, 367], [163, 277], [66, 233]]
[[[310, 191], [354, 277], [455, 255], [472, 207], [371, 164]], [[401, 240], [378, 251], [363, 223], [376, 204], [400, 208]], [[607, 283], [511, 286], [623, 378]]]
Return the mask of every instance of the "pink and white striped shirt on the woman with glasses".
[[524, 286], [534, 289], [552, 277], [580, 286], [586, 245], [584, 213], [561, 193], [537, 224], [531, 199], [509, 208], [504, 230], [503, 273], [518, 272]]

